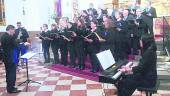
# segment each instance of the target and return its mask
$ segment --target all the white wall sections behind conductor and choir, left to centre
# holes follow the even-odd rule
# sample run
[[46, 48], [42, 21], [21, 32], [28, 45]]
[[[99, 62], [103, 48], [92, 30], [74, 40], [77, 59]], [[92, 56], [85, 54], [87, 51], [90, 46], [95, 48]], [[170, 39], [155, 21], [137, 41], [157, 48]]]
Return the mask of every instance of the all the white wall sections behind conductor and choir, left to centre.
[[[40, 26], [46, 23], [50, 25], [55, 21], [51, 18], [54, 14], [55, 0], [4, 0], [6, 25], [12, 24], [16, 26], [17, 21], [21, 21], [22, 25], [28, 31], [39, 31]], [[72, 0], [62, 1], [62, 15], [72, 19], [73, 5]], [[87, 9], [89, 3], [93, 3], [95, 8], [103, 3], [103, 0], [78, 0], [79, 9]], [[23, 14], [23, 7], [25, 15]], [[0, 26], [0, 32], [5, 31], [6, 26]]]

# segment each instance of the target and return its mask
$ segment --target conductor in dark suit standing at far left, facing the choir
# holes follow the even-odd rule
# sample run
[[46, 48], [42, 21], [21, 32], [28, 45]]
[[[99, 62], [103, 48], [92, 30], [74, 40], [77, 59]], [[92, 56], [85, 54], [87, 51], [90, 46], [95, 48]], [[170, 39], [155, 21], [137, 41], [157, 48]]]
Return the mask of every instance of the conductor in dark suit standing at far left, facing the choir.
[[17, 46], [15, 38], [13, 37], [15, 33], [15, 27], [13, 25], [8, 25], [6, 28], [6, 33], [1, 37], [2, 49], [3, 49], [3, 61], [6, 70], [6, 82], [7, 82], [7, 92], [8, 93], [18, 93], [21, 92], [15, 88], [16, 81], [16, 65], [14, 64], [14, 48]]

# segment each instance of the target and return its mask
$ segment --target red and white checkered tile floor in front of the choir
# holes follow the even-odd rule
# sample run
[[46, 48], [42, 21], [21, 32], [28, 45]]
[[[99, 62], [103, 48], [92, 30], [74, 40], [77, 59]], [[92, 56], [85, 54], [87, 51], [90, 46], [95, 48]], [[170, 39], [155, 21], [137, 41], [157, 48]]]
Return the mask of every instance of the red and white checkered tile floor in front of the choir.
[[[39, 58], [29, 60], [29, 76], [31, 80], [41, 84], [29, 83], [28, 92], [25, 91], [25, 85], [17, 86], [22, 90], [19, 94], [6, 93], [4, 65], [0, 65], [0, 96], [116, 96], [114, 85], [104, 84], [103, 86], [98, 82], [50, 70], [40, 65], [38, 61]], [[22, 69], [17, 72], [16, 85], [25, 80], [26, 70]], [[160, 91], [160, 93], [164, 94], [162, 96], [170, 96], [169, 91]], [[134, 96], [138, 96], [137, 91]]]

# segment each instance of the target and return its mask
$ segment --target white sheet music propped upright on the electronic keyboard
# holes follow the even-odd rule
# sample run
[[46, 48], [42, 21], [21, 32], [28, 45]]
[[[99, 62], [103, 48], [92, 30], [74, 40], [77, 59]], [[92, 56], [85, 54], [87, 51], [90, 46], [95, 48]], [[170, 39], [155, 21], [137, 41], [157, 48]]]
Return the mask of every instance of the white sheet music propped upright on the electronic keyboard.
[[104, 70], [115, 64], [115, 59], [110, 50], [97, 53], [96, 55]]

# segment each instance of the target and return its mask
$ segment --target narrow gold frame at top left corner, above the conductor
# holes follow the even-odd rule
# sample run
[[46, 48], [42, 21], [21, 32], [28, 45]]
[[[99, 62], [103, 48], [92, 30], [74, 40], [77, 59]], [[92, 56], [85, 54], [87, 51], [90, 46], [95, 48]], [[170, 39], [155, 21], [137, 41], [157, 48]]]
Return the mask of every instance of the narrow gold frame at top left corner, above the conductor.
[[0, 26], [6, 25], [4, 0], [0, 0]]

